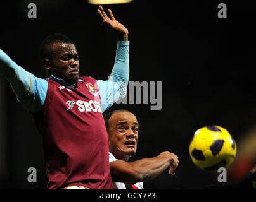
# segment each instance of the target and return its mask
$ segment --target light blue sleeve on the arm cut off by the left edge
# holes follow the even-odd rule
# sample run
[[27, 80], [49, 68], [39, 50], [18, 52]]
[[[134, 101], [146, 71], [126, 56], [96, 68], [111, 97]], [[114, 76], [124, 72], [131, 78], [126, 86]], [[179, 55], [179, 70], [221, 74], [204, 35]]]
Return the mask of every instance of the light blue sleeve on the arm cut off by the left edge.
[[41, 109], [46, 98], [48, 82], [25, 71], [0, 49], [0, 73], [9, 81], [20, 104], [30, 112]]

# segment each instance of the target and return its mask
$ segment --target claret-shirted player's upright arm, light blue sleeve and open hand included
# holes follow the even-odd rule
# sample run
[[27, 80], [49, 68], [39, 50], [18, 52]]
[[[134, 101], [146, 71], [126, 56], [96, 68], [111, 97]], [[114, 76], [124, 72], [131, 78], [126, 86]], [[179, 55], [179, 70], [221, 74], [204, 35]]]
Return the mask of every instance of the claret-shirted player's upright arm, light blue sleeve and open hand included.
[[104, 112], [114, 102], [124, 98], [127, 92], [129, 81], [129, 32], [124, 25], [115, 20], [110, 9], [108, 9], [110, 17], [106, 15], [102, 6], [99, 6], [98, 13], [101, 16], [103, 23], [106, 23], [106, 25], [116, 33], [118, 38], [115, 64], [112, 73], [110, 74], [110, 78], [108, 81], [97, 81], [99, 93], [101, 95], [102, 111]]

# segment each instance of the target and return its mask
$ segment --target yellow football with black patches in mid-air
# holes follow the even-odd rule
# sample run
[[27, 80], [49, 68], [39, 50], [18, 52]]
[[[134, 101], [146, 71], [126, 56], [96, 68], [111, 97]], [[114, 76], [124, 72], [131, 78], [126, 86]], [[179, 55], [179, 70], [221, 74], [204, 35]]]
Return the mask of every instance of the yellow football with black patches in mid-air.
[[189, 144], [189, 155], [200, 169], [227, 168], [236, 157], [236, 142], [221, 126], [205, 126], [195, 132]]

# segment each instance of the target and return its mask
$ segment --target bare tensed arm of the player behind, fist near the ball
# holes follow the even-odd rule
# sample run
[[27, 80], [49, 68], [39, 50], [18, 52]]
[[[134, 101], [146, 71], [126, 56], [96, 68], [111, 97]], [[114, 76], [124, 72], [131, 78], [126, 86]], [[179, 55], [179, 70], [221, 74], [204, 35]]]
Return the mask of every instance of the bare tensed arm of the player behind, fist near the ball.
[[113, 182], [135, 184], [136, 182], [150, 181], [168, 167], [170, 168], [169, 174], [174, 175], [178, 164], [178, 157], [174, 153], [165, 151], [157, 157], [143, 158], [135, 162], [122, 160], [110, 162], [110, 173]]

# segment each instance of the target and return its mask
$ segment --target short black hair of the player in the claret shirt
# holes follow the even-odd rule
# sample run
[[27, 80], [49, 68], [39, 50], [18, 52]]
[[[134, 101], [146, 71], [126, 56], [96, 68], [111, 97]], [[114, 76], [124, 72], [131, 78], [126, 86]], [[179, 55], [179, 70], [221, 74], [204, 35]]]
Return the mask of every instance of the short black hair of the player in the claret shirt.
[[44, 39], [39, 47], [40, 59], [51, 58], [51, 45], [54, 43], [74, 44], [71, 39], [61, 33], [53, 33]]

